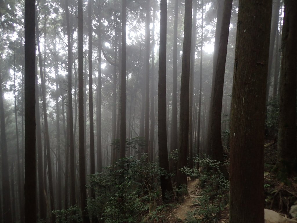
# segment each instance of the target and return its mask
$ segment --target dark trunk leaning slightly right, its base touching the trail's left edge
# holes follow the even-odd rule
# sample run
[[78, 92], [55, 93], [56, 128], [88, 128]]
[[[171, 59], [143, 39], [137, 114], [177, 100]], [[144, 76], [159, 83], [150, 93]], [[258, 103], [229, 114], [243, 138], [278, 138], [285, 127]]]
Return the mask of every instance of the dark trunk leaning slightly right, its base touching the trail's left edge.
[[[189, 80], [191, 57], [192, 0], [185, 1], [184, 43], [181, 67], [181, 113], [179, 121], [179, 148], [176, 174], [176, 187], [187, 186], [187, 175], [181, 168], [187, 166], [187, 149], [189, 139]], [[186, 192], [187, 193], [187, 192]], [[180, 193], [181, 196], [184, 193]]]

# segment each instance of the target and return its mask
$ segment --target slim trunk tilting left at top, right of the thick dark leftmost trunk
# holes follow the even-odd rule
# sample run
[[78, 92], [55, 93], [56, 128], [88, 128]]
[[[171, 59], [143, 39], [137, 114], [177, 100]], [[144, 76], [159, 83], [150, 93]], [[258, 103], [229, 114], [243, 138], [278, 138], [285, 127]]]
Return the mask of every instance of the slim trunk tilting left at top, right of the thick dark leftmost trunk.
[[[38, 57], [39, 57], [39, 67], [40, 67], [40, 77], [41, 77], [41, 94], [42, 94], [42, 109], [44, 117], [44, 133], [45, 133], [45, 144], [46, 144], [46, 158], [48, 163], [48, 184], [50, 191], [50, 210], [55, 210], [54, 202], [54, 192], [53, 192], [53, 175], [52, 175], [52, 164], [50, 158], [50, 136], [48, 132], [48, 115], [47, 115], [47, 105], [46, 105], [46, 89], [45, 89], [45, 73], [42, 69], [42, 55], [40, 51], [40, 33], [38, 23], [36, 25], [36, 38], [37, 38], [37, 48], [38, 48]], [[46, 49], [44, 49], [46, 51]], [[55, 214], [52, 213], [51, 221], [55, 222]]]

